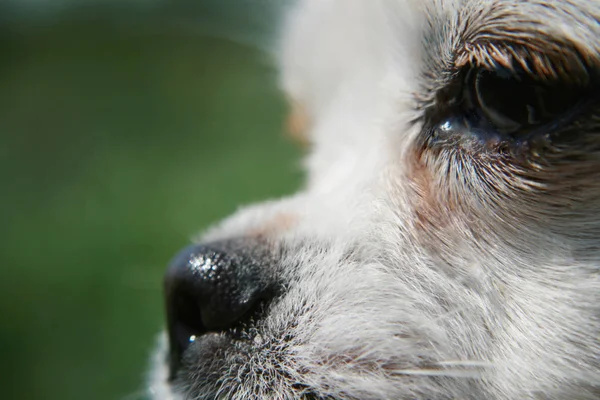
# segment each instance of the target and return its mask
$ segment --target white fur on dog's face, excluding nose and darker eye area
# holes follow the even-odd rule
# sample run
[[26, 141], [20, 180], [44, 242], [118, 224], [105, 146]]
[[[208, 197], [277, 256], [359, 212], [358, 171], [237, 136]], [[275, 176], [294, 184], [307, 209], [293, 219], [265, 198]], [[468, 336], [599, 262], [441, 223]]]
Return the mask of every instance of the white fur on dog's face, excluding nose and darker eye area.
[[[600, 14], [596, 1], [562, 4]], [[452, 221], [431, 232], [437, 250], [415, 228], [407, 157], [421, 126], [411, 124], [413, 95], [423, 90], [428, 57], [437, 56], [426, 54], [423, 34], [465, 8], [486, 7], [483, 0], [305, 0], [292, 10], [281, 82], [311, 121], [307, 187], [243, 209], [202, 237], [250, 235], [291, 215], [291, 226], [268, 233], [291, 249], [280, 260], [290, 285], [257, 326], [252, 350], [240, 349], [247, 363], [231, 361], [216, 383], [219, 398], [300, 397], [293, 383], [335, 399], [598, 398], [600, 257], [582, 256], [566, 239], [581, 236], [579, 226], [523, 222], [515, 237], [514, 226], [491, 216], [487, 223], [496, 209], [481, 202], [477, 221], [447, 210]], [[559, 11], [544, 12], [557, 19], [548, 35], [598, 47], [597, 27], [561, 24]], [[587, 222], [600, 226], [600, 216]], [[165, 351], [153, 363], [157, 400], [180, 398], [167, 384]]]

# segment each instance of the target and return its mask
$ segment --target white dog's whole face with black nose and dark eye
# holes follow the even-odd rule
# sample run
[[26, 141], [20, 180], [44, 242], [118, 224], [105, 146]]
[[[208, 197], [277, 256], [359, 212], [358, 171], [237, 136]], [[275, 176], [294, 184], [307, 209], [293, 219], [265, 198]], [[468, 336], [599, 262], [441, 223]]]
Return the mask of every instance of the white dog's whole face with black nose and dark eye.
[[154, 398], [600, 398], [599, 20], [295, 6], [308, 183], [175, 258]]

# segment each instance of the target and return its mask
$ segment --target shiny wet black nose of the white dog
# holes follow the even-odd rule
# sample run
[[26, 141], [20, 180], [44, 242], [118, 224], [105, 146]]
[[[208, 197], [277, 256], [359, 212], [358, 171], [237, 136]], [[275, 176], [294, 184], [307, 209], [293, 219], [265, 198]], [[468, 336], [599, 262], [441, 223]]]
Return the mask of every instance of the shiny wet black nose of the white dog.
[[244, 241], [193, 245], [173, 259], [164, 281], [172, 377], [197, 337], [237, 326], [273, 297], [267, 264]]

